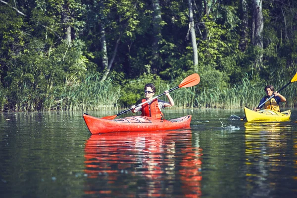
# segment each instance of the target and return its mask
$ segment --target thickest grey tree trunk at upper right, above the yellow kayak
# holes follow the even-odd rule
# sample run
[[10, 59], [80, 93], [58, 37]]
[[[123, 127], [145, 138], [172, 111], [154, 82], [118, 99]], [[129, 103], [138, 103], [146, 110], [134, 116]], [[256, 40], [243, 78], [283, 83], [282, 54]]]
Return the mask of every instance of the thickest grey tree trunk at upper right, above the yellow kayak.
[[[253, 9], [252, 9], [252, 29], [251, 29], [251, 42], [254, 46], [263, 49], [263, 13], [262, 13], [262, 0], [253, 0]], [[262, 53], [256, 59], [255, 69], [260, 69], [262, 64]]]

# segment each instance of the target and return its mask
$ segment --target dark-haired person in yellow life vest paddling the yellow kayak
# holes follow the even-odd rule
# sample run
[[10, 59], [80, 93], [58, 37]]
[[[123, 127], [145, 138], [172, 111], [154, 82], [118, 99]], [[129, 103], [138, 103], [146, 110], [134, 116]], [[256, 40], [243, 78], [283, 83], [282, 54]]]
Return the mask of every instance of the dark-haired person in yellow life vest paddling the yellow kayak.
[[275, 92], [274, 87], [272, 85], [267, 85], [265, 87], [264, 91], [266, 92], [267, 96], [262, 98], [258, 107], [254, 107], [253, 110], [254, 111], [260, 110], [261, 109], [260, 105], [263, 104], [266, 100], [268, 100], [272, 96], [272, 94], [274, 94], [274, 97], [272, 99], [265, 102], [264, 109], [271, 109], [271, 110], [281, 112], [279, 103], [285, 102], [285, 101], [287, 101], [287, 99], [284, 96], [280, 95], [280, 93]]

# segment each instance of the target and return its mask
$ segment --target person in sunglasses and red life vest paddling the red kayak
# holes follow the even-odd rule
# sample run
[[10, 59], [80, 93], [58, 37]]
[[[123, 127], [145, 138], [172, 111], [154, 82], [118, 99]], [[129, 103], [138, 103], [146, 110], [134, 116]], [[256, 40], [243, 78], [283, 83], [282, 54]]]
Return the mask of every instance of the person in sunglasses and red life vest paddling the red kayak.
[[[142, 99], [142, 102], [145, 102], [147, 100], [150, 100], [155, 95], [156, 88], [152, 83], [148, 83], [145, 85], [145, 99]], [[174, 101], [171, 98], [168, 90], [165, 91], [165, 95], [169, 99], [169, 102], [163, 101], [161, 99], [152, 99], [148, 101], [147, 103], [135, 108], [135, 105], [132, 105], [132, 112], [135, 113], [137, 111], [141, 111], [144, 116], [153, 117], [162, 119], [164, 117], [161, 109], [165, 107], [174, 106]]]

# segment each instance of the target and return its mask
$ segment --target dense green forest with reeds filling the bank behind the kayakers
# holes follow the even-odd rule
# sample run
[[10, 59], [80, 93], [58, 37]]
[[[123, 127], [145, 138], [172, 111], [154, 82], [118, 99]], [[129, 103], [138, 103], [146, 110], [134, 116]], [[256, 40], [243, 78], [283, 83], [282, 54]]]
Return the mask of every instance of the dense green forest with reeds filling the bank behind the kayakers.
[[296, 0], [0, 0], [2, 112], [126, 108], [193, 73], [176, 108], [251, 108], [296, 64]]

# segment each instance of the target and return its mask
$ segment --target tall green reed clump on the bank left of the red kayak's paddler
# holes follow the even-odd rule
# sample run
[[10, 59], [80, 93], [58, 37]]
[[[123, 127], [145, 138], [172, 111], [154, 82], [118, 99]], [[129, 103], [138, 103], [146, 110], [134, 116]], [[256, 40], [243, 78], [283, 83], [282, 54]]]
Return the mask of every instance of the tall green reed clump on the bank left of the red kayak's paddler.
[[48, 110], [102, 110], [117, 106], [120, 88], [111, 79], [100, 82], [98, 74], [93, 73], [82, 82], [66, 80], [64, 87], [56, 89], [45, 101]]

